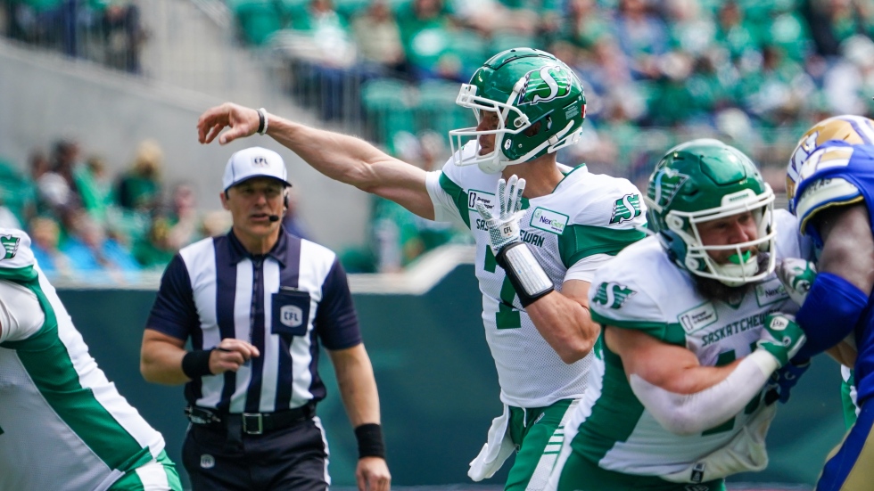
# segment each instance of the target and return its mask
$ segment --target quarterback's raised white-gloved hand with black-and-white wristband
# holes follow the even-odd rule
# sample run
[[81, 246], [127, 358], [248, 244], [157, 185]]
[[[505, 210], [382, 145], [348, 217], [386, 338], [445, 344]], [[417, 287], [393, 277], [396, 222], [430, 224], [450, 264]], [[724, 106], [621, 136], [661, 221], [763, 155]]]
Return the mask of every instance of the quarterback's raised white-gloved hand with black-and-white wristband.
[[495, 192], [499, 215], [495, 217], [482, 200], [476, 201], [475, 206], [489, 230], [489, 242], [491, 251], [495, 254], [495, 262], [504, 269], [507, 278], [513, 283], [519, 303], [522, 307], [528, 307], [535, 300], [555, 290], [555, 286], [537, 262], [537, 258], [534, 258], [532, 251], [522, 241], [519, 232], [519, 220], [524, 215], [524, 191], [524, 179], [516, 176], [510, 176], [506, 182], [500, 179]]

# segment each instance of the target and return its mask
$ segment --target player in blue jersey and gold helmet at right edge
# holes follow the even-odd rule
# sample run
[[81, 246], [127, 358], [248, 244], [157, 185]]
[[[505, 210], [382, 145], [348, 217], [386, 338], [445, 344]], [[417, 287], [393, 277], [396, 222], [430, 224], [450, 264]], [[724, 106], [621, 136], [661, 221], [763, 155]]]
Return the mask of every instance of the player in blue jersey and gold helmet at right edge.
[[[795, 360], [828, 351], [855, 370], [858, 420], [825, 464], [817, 491], [871, 489], [874, 482], [874, 121], [824, 119], [799, 141], [787, 168], [789, 209], [814, 244], [813, 262], [787, 259], [779, 276], [803, 302], [807, 343]], [[815, 264], [815, 266], [814, 266]]]

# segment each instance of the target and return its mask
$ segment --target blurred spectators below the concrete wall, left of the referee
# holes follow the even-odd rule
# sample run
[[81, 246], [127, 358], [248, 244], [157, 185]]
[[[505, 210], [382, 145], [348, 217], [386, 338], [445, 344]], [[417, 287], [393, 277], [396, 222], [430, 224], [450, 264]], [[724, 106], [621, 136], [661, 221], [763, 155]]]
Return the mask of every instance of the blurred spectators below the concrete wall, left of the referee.
[[136, 283], [144, 271], [162, 271], [182, 246], [230, 225], [224, 210], [198, 211], [191, 186], [168, 192], [163, 165], [154, 141], [139, 145], [121, 176], [109, 176], [101, 157], [83, 159], [78, 143], [64, 139], [51, 151], [33, 151], [29, 175], [0, 161], [0, 226], [27, 230], [53, 278]]

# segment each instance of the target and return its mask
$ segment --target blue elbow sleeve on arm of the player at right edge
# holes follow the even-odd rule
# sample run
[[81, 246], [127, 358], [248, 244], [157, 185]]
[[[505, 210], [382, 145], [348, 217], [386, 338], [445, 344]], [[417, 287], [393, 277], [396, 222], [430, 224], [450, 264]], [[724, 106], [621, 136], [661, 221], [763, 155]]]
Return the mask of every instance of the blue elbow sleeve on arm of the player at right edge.
[[868, 295], [844, 278], [817, 274], [804, 306], [796, 315], [807, 336], [796, 358], [810, 358], [835, 346], [853, 332], [867, 305]]

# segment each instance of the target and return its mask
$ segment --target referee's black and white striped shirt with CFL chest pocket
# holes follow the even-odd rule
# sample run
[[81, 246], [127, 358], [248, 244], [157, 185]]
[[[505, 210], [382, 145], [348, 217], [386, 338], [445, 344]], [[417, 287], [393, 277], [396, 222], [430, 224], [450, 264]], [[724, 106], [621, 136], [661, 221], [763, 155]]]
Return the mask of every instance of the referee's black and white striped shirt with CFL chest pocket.
[[230, 413], [272, 413], [325, 397], [318, 342], [361, 342], [346, 274], [331, 250], [283, 231], [253, 256], [233, 232], [180, 250], [161, 278], [147, 327], [194, 349], [225, 338], [251, 342], [260, 356], [237, 372], [186, 384], [191, 405]]

